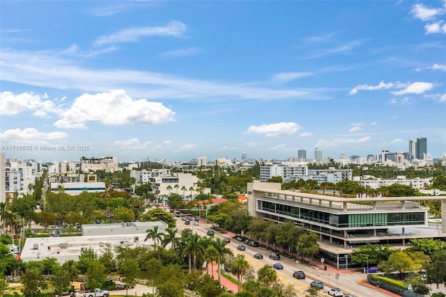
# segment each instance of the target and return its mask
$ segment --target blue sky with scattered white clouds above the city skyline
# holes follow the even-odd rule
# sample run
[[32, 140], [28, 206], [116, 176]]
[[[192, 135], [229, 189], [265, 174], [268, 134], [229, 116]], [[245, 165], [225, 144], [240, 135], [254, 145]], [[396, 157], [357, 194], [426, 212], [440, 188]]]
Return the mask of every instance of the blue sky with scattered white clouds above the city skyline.
[[446, 1], [0, 6], [7, 158], [446, 152]]

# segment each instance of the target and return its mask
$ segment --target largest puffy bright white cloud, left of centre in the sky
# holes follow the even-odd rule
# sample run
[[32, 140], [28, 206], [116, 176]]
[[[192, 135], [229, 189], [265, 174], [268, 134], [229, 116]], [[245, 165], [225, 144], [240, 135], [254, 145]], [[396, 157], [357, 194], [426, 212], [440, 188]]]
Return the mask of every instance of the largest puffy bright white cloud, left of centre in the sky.
[[124, 90], [84, 94], [63, 111], [56, 127], [82, 128], [86, 122], [104, 125], [157, 125], [174, 121], [174, 112], [160, 102], [132, 99]]

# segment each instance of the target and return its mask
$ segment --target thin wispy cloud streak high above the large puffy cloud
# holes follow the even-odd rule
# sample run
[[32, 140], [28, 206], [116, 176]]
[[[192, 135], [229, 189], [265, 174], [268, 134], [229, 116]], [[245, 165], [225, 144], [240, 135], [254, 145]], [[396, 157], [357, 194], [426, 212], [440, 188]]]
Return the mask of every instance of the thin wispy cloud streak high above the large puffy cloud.
[[118, 42], [134, 42], [146, 36], [173, 36], [182, 37], [186, 31], [187, 26], [182, 22], [173, 21], [167, 24], [167, 26], [154, 26], [154, 27], [137, 27], [122, 29], [112, 35], [101, 36], [95, 41], [95, 45], [105, 45], [107, 43]]

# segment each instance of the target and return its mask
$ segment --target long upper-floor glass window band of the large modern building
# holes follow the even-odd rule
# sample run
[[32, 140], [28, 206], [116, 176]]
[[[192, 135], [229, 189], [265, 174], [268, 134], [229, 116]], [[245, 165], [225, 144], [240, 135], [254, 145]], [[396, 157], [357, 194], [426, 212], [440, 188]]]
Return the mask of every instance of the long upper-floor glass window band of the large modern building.
[[392, 213], [367, 213], [364, 211], [360, 214], [330, 214], [326, 211], [293, 207], [265, 200], [257, 200], [257, 209], [268, 211], [270, 214], [289, 216], [341, 228], [424, 225], [426, 219], [424, 211]]

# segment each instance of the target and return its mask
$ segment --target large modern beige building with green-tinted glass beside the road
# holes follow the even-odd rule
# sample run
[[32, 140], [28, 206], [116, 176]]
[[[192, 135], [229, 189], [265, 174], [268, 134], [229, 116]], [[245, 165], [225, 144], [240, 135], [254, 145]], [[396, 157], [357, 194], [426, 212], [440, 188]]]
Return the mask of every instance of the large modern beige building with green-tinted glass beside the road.
[[[404, 247], [410, 239], [446, 240], [446, 196], [339, 198], [283, 191], [281, 186], [248, 183], [249, 214], [276, 223], [292, 221], [315, 232], [317, 257], [337, 268], [346, 268], [348, 255], [366, 243]], [[441, 201], [440, 228], [428, 225], [429, 213], [420, 199]]]

